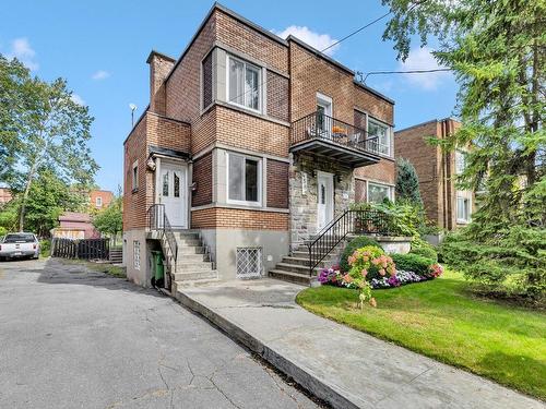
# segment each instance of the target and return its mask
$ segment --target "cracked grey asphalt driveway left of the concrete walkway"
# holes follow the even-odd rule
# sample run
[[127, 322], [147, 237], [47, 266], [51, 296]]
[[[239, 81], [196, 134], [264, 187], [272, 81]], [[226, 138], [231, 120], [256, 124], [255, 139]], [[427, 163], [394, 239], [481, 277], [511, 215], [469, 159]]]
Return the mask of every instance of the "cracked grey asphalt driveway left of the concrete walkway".
[[0, 408], [316, 408], [164, 297], [58, 261], [0, 263]]

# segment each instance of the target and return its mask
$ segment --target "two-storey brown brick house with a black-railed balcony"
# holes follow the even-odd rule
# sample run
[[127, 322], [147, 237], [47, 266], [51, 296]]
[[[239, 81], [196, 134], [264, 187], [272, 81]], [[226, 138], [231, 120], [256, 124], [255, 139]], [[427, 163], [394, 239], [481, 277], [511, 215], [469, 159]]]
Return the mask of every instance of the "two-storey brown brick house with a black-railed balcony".
[[159, 248], [175, 281], [260, 276], [352, 202], [393, 199], [394, 103], [301, 40], [215, 3], [178, 60], [146, 62], [123, 143], [130, 279], [150, 285]]

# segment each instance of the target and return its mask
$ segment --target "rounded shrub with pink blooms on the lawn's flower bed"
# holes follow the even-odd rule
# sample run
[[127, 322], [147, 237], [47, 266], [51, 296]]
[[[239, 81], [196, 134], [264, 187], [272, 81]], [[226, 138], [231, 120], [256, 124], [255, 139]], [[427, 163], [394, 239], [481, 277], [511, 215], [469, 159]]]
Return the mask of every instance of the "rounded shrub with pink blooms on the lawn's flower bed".
[[367, 245], [348, 256], [351, 270], [348, 275], [354, 279], [364, 278], [370, 281], [372, 278], [394, 276], [396, 273], [392, 258], [384, 251], [375, 245]]

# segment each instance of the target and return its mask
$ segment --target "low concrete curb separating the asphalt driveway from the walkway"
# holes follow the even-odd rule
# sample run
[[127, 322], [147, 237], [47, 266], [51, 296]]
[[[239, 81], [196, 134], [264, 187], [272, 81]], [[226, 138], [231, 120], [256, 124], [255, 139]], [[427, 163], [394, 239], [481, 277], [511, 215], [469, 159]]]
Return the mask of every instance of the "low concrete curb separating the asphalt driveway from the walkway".
[[189, 308], [190, 310], [209, 320], [211, 323], [229, 335], [233, 339], [242, 344], [252, 352], [258, 353], [278, 371], [290, 376], [294, 381], [296, 381], [296, 383], [309, 390], [312, 395], [330, 404], [333, 408], [361, 408], [361, 405], [356, 405], [351, 400], [351, 397], [347, 396], [349, 394], [344, 392], [342, 395], [341, 392], [335, 390], [330, 385], [327, 385], [319, 377], [317, 377], [311, 370], [301, 368], [290, 359], [283, 357], [259, 338], [244, 330], [238, 324], [214, 312], [213, 309], [211, 309], [206, 304], [195, 300], [187, 293], [181, 292], [180, 290], [177, 291], [175, 298], [182, 305]]

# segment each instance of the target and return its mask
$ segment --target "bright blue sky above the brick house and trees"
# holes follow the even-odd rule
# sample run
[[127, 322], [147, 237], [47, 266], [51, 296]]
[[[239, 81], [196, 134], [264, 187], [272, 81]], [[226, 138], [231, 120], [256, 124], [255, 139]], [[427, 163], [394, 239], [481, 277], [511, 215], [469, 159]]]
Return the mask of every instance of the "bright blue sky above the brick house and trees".
[[[294, 34], [317, 48], [382, 15], [379, 0], [222, 1], [277, 34]], [[95, 117], [91, 147], [103, 189], [122, 184], [122, 142], [149, 103], [151, 49], [178, 58], [212, 1], [12, 1], [2, 10], [0, 52], [17, 56], [45, 80], [68, 80]], [[286, 11], [290, 10], [289, 13]], [[355, 71], [431, 69], [429, 49], [412, 45], [405, 64], [381, 40], [385, 20], [343, 41], [331, 57]], [[367, 84], [396, 101], [395, 125], [410, 127], [453, 113], [456, 86], [450, 73], [370, 76]]]

